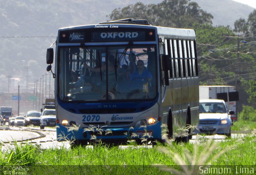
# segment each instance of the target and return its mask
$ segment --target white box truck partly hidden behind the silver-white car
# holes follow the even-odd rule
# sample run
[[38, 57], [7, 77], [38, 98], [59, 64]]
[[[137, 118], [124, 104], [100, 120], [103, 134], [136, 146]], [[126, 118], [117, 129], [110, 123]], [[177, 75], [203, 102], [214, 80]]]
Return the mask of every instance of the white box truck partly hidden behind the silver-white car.
[[199, 99], [224, 100], [228, 110], [235, 112], [231, 119], [237, 120], [236, 101], [239, 100], [239, 95], [235, 86], [199, 86]]

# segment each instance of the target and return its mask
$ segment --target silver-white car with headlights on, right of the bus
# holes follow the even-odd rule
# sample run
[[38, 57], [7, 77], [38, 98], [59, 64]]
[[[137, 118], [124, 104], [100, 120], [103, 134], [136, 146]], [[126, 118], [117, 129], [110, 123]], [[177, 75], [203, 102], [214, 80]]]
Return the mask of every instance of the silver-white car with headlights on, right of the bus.
[[234, 111], [228, 111], [224, 100], [206, 99], [200, 100], [199, 125], [196, 133], [208, 135], [219, 134], [231, 136], [232, 120], [230, 115]]

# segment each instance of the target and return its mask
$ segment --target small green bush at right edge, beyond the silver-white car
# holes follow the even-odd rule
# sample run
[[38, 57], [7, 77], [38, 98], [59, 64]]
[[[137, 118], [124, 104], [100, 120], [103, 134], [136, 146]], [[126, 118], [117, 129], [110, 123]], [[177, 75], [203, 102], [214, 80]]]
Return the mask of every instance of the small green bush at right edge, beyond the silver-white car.
[[252, 106], [244, 106], [242, 112], [240, 112], [238, 116], [238, 120], [256, 122], [256, 109]]

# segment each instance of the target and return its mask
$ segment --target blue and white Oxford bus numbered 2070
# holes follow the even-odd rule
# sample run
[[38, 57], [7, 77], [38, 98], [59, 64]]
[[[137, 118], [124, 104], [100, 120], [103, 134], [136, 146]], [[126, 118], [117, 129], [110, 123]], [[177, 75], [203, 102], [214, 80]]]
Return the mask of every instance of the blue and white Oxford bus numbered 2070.
[[[48, 71], [53, 52], [47, 50]], [[61, 28], [53, 75], [58, 140], [163, 140], [190, 134], [180, 128], [198, 125], [193, 29], [132, 18]], [[75, 133], [69, 130], [73, 125]]]

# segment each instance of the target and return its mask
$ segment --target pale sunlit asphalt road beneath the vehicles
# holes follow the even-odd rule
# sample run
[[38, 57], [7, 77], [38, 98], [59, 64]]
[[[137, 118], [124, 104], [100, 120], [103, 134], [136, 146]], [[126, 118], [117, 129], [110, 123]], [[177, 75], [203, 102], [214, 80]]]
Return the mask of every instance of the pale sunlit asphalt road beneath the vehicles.
[[[246, 134], [232, 134], [232, 138], [241, 138]], [[225, 142], [226, 136], [192, 136], [190, 142], [200, 142], [202, 139], [213, 139], [215, 142]], [[45, 128], [40, 130], [39, 127], [0, 127], [0, 143], [2, 150], [14, 147], [14, 142], [19, 144], [38, 144], [43, 149], [70, 147], [69, 142], [56, 141], [56, 129]], [[125, 146], [124, 146], [125, 147]]]

